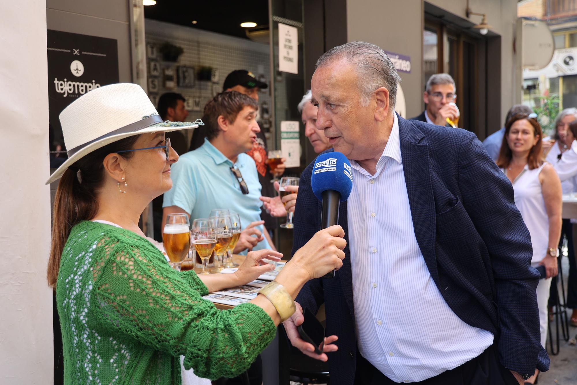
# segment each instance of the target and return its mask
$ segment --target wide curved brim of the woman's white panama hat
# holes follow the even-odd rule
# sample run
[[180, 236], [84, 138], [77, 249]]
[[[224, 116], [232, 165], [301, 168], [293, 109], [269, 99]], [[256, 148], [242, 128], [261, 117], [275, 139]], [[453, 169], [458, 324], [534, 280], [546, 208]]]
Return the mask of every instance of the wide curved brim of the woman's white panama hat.
[[114, 143], [117, 140], [128, 138], [129, 136], [140, 135], [140, 134], [150, 134], [152, 132], [171, 132], [171, 131], [180, 131], [182, 129], [191, 129], [197, 128], [198, 124], [188, 123], [188, 122], [171, 122], [171, 123], [158, 123], [151, 125], [149, 127], [140, 129], [138, 131], [126, 132], [124, 134], [118, 134], [113, 136], [108, 136], [102, 140], [98, 140], [98, 142], [94, 142], [89, 144], [88, 146], [84, 147], [83, 149], [77, 151], [73, 156], [68, 158], [60, 167], [54, 171], [52, 175], [46, 181], [46, 184], [50, 184], [55, 180], [60, 179], [62, 174], [68, 169], [74, 162], [78, 161], [80, 158], [86, 156], [87, 154], [91, 153], [94, 150], [98, 150], [100, 147], [104, 147], [109, 145], [110, 143]]

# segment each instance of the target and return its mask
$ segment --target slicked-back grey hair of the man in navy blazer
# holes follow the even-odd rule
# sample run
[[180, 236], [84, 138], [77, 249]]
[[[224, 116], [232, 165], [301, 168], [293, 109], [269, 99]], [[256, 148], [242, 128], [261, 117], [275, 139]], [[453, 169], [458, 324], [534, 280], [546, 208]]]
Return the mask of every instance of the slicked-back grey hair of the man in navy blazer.
[[363, 106], [369, 105], [373, 92], [380, 87], [389, 90], [389, 105], [395, 106], [396, 87], [401, 79], [385, 51], [379, 46], [367, 42], [350, 42], [334, 47], [321, 55], [316, 68], [337, 59], [344, 59], [355, 66]]

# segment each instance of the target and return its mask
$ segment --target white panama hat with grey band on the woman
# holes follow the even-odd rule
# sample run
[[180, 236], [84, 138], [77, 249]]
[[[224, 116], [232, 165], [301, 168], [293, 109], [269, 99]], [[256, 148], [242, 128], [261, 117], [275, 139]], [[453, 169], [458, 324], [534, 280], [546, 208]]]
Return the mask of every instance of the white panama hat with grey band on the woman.
[[204, 123], [163, 122], [138, 84], [117, 83], [95, 88], [70, 103], [60, 113], [66, 160], [46, 184], [59, 179], [68, 167], [86, 154], [128, 136], [196, 128]]

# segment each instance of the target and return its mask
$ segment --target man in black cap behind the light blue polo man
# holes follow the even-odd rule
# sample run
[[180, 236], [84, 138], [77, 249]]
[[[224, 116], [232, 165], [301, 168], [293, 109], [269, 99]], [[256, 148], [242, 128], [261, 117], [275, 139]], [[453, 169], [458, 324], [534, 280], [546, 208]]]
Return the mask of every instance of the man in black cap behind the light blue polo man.
[[[246, 71], [246, 69], [237, 69], [228, 74], [226, 79], [224, 79], [223, 91], [238, 91], [241, 94], [248, 95], [254, 100], [258, 101], [258, 91], [261, 89], [268, 88], [267, 83], [260, 82], [254, 77], [252, 72]], [[258, 120], [258, 118], [257, 118]], [[192, 140], [190, 140], [189, 151], [196, 150], [198, 147], [202, 146], [204, 143], [204, 138], [207, 136], [207, 126], [208, 119], [204, 119], [204, 126], [199, 126], [194, 129], [192, 133]], [[256, 163], [256, 168], [258, 171], [258, 180], [261, 184], [261, 194], [263, 197], [275, 197], [276, 191], [271, 183], [272, 172], [269, 171], [267, 165], [267, 140], [265, 139], [264, 132], [261, 130], [257, 134], [256, 143], [254, 143], [253, 148], [247, 152], [250, 157], [253, 158], [254, 163]], [[275, 175], [282, 175], [284, 173], [284, 163], [276, 166]], [[265, 212], [261, 213], [261, 219], [264, 220], [264, 226], [267, 229], [276, 228], [276, 218], [272, 217], [270, 214]], [[272, 238], [272, 235], [271, 235]]]

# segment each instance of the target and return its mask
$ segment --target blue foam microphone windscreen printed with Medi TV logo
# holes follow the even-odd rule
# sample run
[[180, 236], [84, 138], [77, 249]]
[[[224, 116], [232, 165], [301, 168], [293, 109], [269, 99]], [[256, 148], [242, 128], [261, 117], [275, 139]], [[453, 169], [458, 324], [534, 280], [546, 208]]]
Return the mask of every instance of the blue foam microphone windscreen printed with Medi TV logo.
[[310, 186], [314, 195], [323, 200], [323, 191], [335, 190], [340, 193], [340, 201], [346, 201], [353, 188], [351, 164], [341, 153], [332, 151], [320, 154], [314, 161]]

